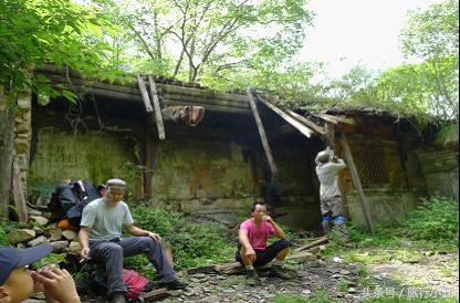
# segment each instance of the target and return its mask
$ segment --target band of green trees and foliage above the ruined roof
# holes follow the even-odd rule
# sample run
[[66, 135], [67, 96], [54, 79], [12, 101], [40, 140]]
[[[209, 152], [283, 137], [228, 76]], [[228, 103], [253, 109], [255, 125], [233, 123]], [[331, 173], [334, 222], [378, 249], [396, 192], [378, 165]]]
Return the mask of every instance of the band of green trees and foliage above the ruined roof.
[[318, 82], [326, 62], [294, 60], [314, 24], [307, 0], [4, 0], [0, 86], [8, 96], [32, 88], [42, 100], [75, 100], [31, 72], [52, 63], [109, 81], [157, 74], [216, 90], [257, 87], [292, 108], [376, 106], [458, 125], [459, 4], [433, 3], [408, 20], [400, 33], [408, 63], [356, 65]]

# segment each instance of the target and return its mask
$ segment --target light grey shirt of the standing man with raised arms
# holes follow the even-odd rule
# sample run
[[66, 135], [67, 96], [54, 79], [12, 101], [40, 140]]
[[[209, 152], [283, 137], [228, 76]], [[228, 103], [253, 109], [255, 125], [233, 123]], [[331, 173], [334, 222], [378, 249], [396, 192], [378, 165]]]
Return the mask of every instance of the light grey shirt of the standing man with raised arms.
[[338, 159], [337, 163], [318, 164], [316, 166], [316, 175], [320, 179], [320, 198], [321, 200], [328, 200], [331, 198], [341, 196], [338, 188], [338, 176], [337, 174], [346, 168], [344, 160]]

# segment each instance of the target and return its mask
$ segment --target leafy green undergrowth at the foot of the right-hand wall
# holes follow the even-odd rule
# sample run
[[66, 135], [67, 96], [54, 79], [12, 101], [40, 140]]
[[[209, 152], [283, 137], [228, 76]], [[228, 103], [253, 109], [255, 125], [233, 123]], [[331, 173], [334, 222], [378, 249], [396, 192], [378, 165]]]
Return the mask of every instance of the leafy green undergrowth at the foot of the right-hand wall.
[[[452, 251], [459, 247], [459, 202], [447, 198], [422, 199], [416, 210], [396, 224], [377, 224], [375, 236], [349, 227], [351, 240], [357, 251], [348, 261], [386, 262], [391, 259], [420, 261], [422, 251]], [[381, 250], [373, 250], [380, 248]], [[346, 252], [337, 241], [327, 247], [326, 255]]]

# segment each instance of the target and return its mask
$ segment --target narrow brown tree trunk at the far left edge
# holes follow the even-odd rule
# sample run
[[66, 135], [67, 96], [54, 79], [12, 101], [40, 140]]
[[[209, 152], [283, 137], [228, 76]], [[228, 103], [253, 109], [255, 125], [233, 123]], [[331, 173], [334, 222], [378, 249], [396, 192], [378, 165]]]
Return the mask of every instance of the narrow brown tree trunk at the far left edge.
[[14, 113], [7, 106], [6, 96], [0, 87], [0, 219], [8, 218], [13, 139]]

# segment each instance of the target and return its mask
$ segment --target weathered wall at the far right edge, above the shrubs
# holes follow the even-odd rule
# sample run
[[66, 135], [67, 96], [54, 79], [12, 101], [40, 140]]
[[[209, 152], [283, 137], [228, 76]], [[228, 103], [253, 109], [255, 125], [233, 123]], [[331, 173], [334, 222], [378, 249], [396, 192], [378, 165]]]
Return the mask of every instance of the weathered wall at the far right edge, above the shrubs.
[[443, 196], [459, 200], [459, 150], [417, 152], [429, 196]]

